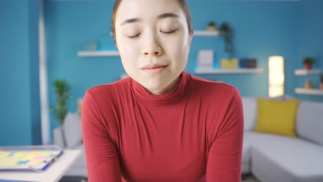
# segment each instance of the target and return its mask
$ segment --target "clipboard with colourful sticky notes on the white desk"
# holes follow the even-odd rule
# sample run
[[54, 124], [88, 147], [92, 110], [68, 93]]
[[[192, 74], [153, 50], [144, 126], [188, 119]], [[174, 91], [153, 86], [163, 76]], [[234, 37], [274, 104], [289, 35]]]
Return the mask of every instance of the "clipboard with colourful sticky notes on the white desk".
[[45, 171], [61, 154], [57, 145], [0, 147], [0, 172]]

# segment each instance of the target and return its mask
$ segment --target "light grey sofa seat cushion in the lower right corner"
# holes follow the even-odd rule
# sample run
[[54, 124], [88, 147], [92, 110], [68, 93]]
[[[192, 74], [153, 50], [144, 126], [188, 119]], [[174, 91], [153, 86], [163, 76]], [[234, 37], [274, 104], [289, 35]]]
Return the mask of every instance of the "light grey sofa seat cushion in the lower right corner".
[[303, 139], [246, 132], [251, 168], [263, 181], [323, 181], [323, 147]]

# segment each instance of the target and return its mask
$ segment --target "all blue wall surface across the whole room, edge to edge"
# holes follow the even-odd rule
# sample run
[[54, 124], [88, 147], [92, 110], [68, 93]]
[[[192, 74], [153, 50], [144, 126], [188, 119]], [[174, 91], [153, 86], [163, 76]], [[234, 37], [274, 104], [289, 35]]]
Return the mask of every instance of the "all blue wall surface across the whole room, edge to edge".
[[[40, 143], [38, 76], [38, 1], [0, 1], [1, 20], [1, 109], [0, 145]], [[64, 78], [72, 86], [74, 112], [76, 100], [87, 88], [110, 83], [124, 73], [119, 57], [77, 57], [86, 43], [99, 41], [114, 48], [110, 37], [110, 14], [113, 1], [49, 1], [45, 3], [48, 83], [50, 105], [55, 105], [52, 81]], [[255, 57], [261, 74], [207, 74], [206, 79], [223, 80], [237, 87], [242, 96], [268, 94], [268, 57], [285, 58], [286, 93], [301, 99], [322, 101], [322, 97], [298, 96], [295, 87], [304, 79], [293, 71], [302, 68], [304, 55], [317, 59], [322, 70], [323, 2], [305, 1], [188, 1], [195, 30], [206, 28], [208, 21], [218, 25], [228, 21], [235, 30], [237, 58]], [[197, 52], [215, 51], [215, 65], [227, 57], [220, 37], [194, 37], [186, 71], [194, 74]], [[313, 76], [318, 81], [318, 76]], [[51, 128], [59, 123], [50, 114]], [[8, 138], [9, 139], [8, 139]]]

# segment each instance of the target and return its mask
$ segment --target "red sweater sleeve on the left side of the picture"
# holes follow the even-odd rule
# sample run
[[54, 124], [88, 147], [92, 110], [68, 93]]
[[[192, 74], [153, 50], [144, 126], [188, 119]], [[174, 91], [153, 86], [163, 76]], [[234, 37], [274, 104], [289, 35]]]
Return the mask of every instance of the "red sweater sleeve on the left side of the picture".
[[82, 103], [81, 123], [84, 150], [90, 182], [121, 182], [121, 171], [115, 144], [112, 142], [104, 117], [90, 92]]

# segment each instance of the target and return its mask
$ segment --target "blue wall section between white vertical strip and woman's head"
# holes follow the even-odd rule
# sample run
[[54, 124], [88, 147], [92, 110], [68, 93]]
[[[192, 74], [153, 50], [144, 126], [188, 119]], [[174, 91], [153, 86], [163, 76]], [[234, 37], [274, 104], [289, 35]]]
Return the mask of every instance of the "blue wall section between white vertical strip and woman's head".
[[[113, 47], [110, 37], [111, 9], [112, 1], [46, 1], [50, 105], [56, 104], [52, 86], [55, 79], [66, 79], [70, 83], [73, 101], [69, 108], [75, 111], [77, 98], [83, 97], [87, 88], [116, 81], [124, 72], [119, 57], [77, 57], [77, 51], [84, 50], [84, 45], [92, 40]], [[51, 128], [59, 125], [52, 113], [50, 125]]]

